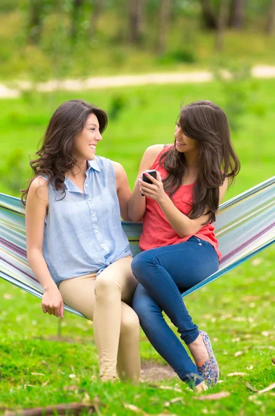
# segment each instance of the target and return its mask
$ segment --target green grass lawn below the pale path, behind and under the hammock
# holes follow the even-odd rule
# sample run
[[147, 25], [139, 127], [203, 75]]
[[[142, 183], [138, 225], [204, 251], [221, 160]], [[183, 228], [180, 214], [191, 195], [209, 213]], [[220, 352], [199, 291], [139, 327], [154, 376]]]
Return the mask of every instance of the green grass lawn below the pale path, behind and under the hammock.
[[[248, 110], [240, 114], [241, 127], [233, 133], [242, 171], [227, 198], [274, 175], [275, 81], [247, 81], [242, 87], [247, 88]], [[229, 102], [218, 82], [0, 101], [1, 192], [18, 196], [17, 189], [30, 176], [26, 170], [28, 154], [35, 153], [55, 107], [71, 98], [85, 98], [113, 114], [98, 154], [121, 162], [131, 187], [145, 148], [172, 142], [180, 103], [206, 98], [225, 107]], [[254, 111], [256, 105], [258, 112]], [[119, 106], [122, 109], [116, 114]], [[201, 397], [230, 393], [218, 400], [197, 400], [177, 377], [144, 382], [139, 387], [127, 383], [102, 385], [92, 324], [69, 313], [60, 324], [42, 313], [39, 300], [0, 280], [0, 413], [1, 407], [28, 408], [85, 400], [98, 404], [98, 415], [108, 416], [271, 415], [275, 390], [257, 394], [249, 390], [247, 383], [261, 390], [275, 381], [274, 254], [275, 248], [269, 248], [186, 298], [194, 321], [209, 332], [220, 363], [222, 382]], [[141, 358], [143, 363], [164, 364], [143, 333]], [[229, 376], [232, 372], [242, 375]]]

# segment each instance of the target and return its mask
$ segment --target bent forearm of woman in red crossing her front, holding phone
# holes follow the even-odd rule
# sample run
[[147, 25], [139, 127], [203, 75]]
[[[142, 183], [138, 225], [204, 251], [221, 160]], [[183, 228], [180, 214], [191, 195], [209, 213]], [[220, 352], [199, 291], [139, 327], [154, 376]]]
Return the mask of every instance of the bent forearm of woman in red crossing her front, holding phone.
[[[159, 207], [161, 207], [163, 214], [166, 216], [171, 227], [175, 229], [175, 232], [177, 232], [177, 234], [181, 238], [199, 232], [199, 229], [203, 227], [203, 224], [206, 223], [209, 216], [207, 214], [203, 214], [202, 216], [199, 216], [199, 218], [188, 218], [188, 216], [182, 214], [182, 212], [175, 207], [172, 200], [170, 200], [168, 195], [164, 192], [163, 184], [159, 177], [157, 178], [157, 180], [155, 180], [154, 177], [150, 176], [150, 179], [153, 182], [152, 184], [146, 184], [145, 182], [141, 182], [143, 193], [145, 193], [145, 195], [147, 196], [150, 196], [150, 198], [157, 200]], [[224, 197], [224, 193], [227, 190], [227, 187], [228, 180], [226, 179], [220, 187], [219, 205], [222, 201], [222, 198]], [[206, 207], [205, 212], [207, 211], [208, 209]]]

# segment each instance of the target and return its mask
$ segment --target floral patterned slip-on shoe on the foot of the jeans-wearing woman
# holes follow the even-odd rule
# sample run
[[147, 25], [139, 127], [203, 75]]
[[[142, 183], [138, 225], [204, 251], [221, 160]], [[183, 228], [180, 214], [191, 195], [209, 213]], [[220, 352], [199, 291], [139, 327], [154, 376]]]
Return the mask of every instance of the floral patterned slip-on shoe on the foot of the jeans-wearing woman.
[[199, 333], [204, 340], [207, 352], [209, 353], [209, 359], [204, 361], [202, 365], [197, 365], [197, 371], [199, 374], [202, 374], [206, 383], [211, 387], [218, 383], [219, 366], [215, 359], [208, 334], [205, 331], [199, 331]]

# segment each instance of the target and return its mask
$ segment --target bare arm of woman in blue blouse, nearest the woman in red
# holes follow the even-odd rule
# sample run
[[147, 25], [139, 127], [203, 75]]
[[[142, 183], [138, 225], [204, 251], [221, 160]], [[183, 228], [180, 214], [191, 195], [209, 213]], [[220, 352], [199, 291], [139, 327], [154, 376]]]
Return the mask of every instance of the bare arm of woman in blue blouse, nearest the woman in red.
[[130, 221], [131, 219], [128, 215], [128, 202], [132, 192], [128, 184], [128, 178], [121, 164], [113, 161], [112, 164], [116, 176], [116, 192], [118, 194], [118, 202], [121, 209], [121, 218], [125, 221]]

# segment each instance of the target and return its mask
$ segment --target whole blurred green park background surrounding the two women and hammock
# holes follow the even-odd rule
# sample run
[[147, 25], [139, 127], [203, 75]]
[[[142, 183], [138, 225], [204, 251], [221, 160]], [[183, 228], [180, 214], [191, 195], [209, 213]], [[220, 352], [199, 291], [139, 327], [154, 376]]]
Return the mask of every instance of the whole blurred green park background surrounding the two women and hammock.
[[[107, 112], [97, 153], [124, 166], [131, 188], [145, 148], [172, 143], [181, 105], [202, 99], [226, 112], [242, 164], [224, 199], [267, 180], [274, 51], [275, 0], [0, 0], [0, 192], [19, 197], [28, 186], [51, 115], [73, 98]], [[215, 343], [224, 383], [214, 391], [232, 392], [222, 404], [187, 390], [172, 404], [185, 387], [163, 380], [164, 362], [143, 333], [143, 379], [154, 370], [166, 390], [155, 388], [156, 375], [153, 385], [102, 388], [91, 322], [44, 315], [35, 297], [0, 279], [1, 409], [95, 397], [98, 415], [133, 415], [124, 401], [154, 415], [182, 415], [182, 406], [192, 416], [273, 415], [274, 393], [251, 390], [275, 379], [274, 254], [275, 245], [187, 298]]]

